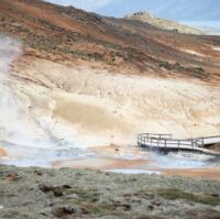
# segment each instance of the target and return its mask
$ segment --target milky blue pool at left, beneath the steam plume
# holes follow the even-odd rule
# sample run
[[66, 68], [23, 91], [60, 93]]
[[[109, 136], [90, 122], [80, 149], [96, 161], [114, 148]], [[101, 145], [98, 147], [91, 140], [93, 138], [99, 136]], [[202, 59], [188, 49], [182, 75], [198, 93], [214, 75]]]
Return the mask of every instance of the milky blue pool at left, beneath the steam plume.
[[51, 149], [8, 144], [7, 146], [2, 146], [2, 149], [7, 151], [9, 157], [1, 158], [0, 163], [21, 167], [51, 167], [54, 161], [84, 158], [95, 155], [95, 153], [86, 149], [80, 149], [76, 144], [54, 145]]

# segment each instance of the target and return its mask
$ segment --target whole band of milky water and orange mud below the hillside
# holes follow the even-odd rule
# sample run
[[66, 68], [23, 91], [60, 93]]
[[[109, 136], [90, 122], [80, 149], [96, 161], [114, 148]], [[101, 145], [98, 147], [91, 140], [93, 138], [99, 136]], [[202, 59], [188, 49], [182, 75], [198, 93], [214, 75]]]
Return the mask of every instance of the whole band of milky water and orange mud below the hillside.
[[[84, 149], [78, 144], [61, 142], [54, 147], [29, 147], [1, 143], [6, 154], [0, 158], [4, 165], [48, 168], [91, 168], [121, 174], [164, 174], [166, 171], [190, 172], [193, 169], [219, 171], [220, 158], [191, 152], [162, 154], [138, 146], [98, 146]], [[170, 175], [170, 173], [169, 173]]]

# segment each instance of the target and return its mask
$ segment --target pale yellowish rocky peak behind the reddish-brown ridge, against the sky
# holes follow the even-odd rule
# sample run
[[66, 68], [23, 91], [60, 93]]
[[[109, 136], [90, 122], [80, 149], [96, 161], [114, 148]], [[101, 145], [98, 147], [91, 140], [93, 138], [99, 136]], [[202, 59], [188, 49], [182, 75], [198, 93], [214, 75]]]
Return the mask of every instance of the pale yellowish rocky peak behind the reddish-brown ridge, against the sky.
[[186, 34], [202, 34], [199, 30], [180, 24], [176, 21], [156, 18], [146, 11], [128, 14], [125, 15], [125, 19], [146, 22], [163, 30], [177, 31]]

